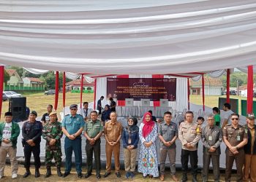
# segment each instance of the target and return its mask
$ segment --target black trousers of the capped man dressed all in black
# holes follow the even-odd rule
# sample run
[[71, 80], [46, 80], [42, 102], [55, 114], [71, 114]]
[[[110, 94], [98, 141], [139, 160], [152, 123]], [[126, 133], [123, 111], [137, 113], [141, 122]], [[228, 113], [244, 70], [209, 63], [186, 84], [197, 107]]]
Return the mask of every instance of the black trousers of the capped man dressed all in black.
[[39, 169], [39, 167], [41, 167], [40, 144], [36, 144], [35, 146], [29, 146], [29, 144], [26, 144], [24, 146], [24, 157], [25, 157], [24, 167], [25, 168], [30, 167], [30, 159], [31, 159], [31, 154], [32, 153], [33, 153], [33, 156], [34, 156], [34, 167], [36, 169]]

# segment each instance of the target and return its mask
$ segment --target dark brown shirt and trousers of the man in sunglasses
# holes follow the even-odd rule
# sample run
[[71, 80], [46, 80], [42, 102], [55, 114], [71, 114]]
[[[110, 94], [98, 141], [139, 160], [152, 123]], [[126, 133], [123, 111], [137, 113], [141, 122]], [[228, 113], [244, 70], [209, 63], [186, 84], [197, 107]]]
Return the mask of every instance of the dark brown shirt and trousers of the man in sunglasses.
[[[244, 127], [238, 124], [238, 127], [235, 129], [232, 124], [227, 124], [223, 128], [223, 136], [227, 137], [231, 146], [237, 146], [241, 143], [244, 138], [248, 138], [246, 130]], [[244, 147], [238, 149], [238, 154], [233, 154], [228, 148], [226, 149], [226, 173], [225, 181], [230, 181], [231, 170], [233, 167], [233, 162], [236, 161], [236, 170], [237, 170], [237, 180], [242, 181], [243, 179], [243, 165], [244, 165]]]

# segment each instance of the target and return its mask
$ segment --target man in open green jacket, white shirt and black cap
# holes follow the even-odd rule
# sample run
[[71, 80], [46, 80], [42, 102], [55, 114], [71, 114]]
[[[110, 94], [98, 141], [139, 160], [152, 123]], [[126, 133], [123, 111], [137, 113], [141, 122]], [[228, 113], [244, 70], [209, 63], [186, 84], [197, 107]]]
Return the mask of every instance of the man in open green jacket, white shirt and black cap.
[[5, 122], [0, 123], [0, 179], [4, 176], [5, 160], [8, 156], [12, 166], [12, 178], [17, 178], [18, 162], [16, 159], [17, 139], [20, 135], [20, 127], [12, 121], [12, 113], [4, 114]]

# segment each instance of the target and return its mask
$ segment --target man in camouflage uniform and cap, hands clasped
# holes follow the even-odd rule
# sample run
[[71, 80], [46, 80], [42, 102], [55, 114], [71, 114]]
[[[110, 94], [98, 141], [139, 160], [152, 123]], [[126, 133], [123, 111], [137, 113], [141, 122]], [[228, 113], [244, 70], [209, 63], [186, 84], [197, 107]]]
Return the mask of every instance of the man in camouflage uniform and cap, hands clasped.
[[61, 123], [57, 122], [57, 113], [51, 112], [49, 114], [50, 121], [46, 122], [42, 129], [42, 138], [46, 140], [45, 143], [45, 165], [46, 165], [46, 174], [45, 178], [48, 178], [51, 175], [50, 167], [52, 165], [52, 159], [54, 158], [57, 174], [62, 176], [61, 173], [61, 137], [63, 135]]

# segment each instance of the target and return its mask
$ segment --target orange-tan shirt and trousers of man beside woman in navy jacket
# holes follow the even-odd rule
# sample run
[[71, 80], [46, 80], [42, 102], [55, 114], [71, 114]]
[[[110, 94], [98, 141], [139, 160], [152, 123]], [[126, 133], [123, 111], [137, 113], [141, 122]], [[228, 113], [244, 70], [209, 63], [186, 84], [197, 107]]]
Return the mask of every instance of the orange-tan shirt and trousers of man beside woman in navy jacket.
[[[104, 128], [105, 137], [108, 138], [109, 142], [116, 142], [119, 136], [121, 136], [121, 132], [123, 127], [120, 122], [112, 123], [111, 121], [106, 122]], [[106, 141], [106, 172], [110, 173], [111, 171], [111, 157], [112, 152], [114, 153], [115, 158], [115, 170], [116, 173], [119, 172], [120, 169], [120, 162], [119, 162], [119, 155], [120, 155], [120, 140], [116, 143], [115, 146], [110, 146]]]

